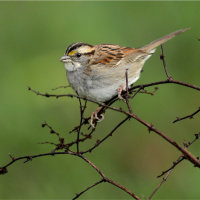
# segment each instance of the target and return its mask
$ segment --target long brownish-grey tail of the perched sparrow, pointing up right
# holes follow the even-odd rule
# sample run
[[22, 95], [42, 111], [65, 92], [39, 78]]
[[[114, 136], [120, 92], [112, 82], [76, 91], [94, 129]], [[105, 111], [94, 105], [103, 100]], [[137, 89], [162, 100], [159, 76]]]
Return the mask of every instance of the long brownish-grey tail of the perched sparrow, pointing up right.
[[167, 42], [168, 40], [172, 39], [176, 35], [179, 35], [180, 33], [185, 32], [189, 29], [190, 28], [185, 28], [185, 29], [181, 29], [179, 31], [175, 31], [175, 32], [170, 33], [169, 35], [166, 35], [160, 39], [157, 39], [157, 40], [151, 42], [150, 44], [148, 44], [142, 48], [139, 48], [139, 49], [141, 49], [142, 51], [145, 51], [145, 52], [150, 52], [152, 49], [156, 48], [157, 46], [163, 44], [164, 42]]

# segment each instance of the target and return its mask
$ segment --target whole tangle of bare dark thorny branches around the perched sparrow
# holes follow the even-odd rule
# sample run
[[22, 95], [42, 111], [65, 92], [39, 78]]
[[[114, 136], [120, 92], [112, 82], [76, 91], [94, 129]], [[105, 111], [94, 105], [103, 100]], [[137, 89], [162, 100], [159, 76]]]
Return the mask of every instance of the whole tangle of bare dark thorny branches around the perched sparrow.
[[[126, 77], [126, 91], [123, 91], [122, 92], [122, 95], [125, 96], [126, 98], [126, 104], [127, 104], [127, 107], [128, 107], [128, 110], [129, 112], [123, 110], [122, 108], [115, 108], [115, 107], [112, 107], [111, 105], [118, 100], [118, 96], [116, 95], [115, 97], [113, 97], [111, 100], [109, 100], [108, 102], [106, 102], [105, 104], [102, 104], [102, 103], [99, 103], [99, 102], [96, 102], [94, 100], [91, 100], [91, 99], [87, 99], [87, 98], [83, 98], [83, 97], [80, 97], [78, 94], [77, 95], [73, 95], [73, 94], [63, 94], [63, 95], [54, 95], [54, 94], [41, 94], [40, 92], [36, 92], [35, 90], [31, 89], [29, 86], [28, 86], [28, 89], [31, 90], [32, 92], [36, 93], [37, 95], [40, 95], [40, 96], [45, 96], [45, 97], [56, 97], [56, 98], [59, 98], [59, 97], [75, 97], [75, 98], [78, 98], [79, 100], [79, 105], [80, 105], [80, 123], [78, 126], [76, 126], [72, 131], [70, 131], [70, 133], [72, 132], [77, 132], [77, 139], [73, 142], [70, 142], [70, 143], [65, 143], [65, 140], [64, 138], [61, 138], [60, 137], [60, 134], [57, 133], [56, 131], [54, 131], [52, 129], [51, 126], [49, 126], [46, 122], [42, 125], [42, 127], [45, 127], [47, 126], [49, 129], [50, 129], [50, 133], [51, 134], [56, 134], [58, 136], [58, 139], [59, 139], [59, 143], [56, 144], [56, 143], [53, 143], [53, 142], [43, 142], [43, 143], [40, 143], [40, 144], [51, 144], [51, 145], [54, 145], [56, 146], [56, 148], [50, 152], [50, 153], [44, 153], [44, 154], [38, 154], [38, 155], [33, 155], [33, 156], [24, 156], [24, 157], [19, 157], [19, 158], [14, 158], [13, 156], [11, 156], [11, 154], [9, 154], [9, 156], [11, 157], [11, 162], [8, 163], [7, 165], [3, 166], [0, 168], [0, 174], [5, 174], [7, 173], [7, 167], [9, 167], [11, 164], [13, 164], [14, 162], [18, 161], [18, 160], [22, 160], [22, 159], [26, 159], [24, 161], [24, 163], [26, 162], [29, 162], [29, 161], [32, 161], [32, 159], [34, 158], [37, 158], [37, 157], [41, 157], [41, 156], [48, 156], [48, 155], [59, 155], [59, 154], [67, 154], [67, 155], [74, 155], [74, 156], [77, 156], [81, 159], [83, 159], [84, 161], [86, 161], [89, 165], [91, 165], [99, 174], [100, 176], [102, 177], [102, 179], [94, 184], [92, 184], [91, 186], [87, 187], [85, 190], [83, 190], [82, 192], [80, 192], [79, 194], [76, 194], [76, 197], [74, 197], [73, 199], [77, 199], [79, 196], [81, 196], [83, 193], [85, 193], [86, 191], [88, 191], [89, 189], [103, 183], [103, 182], [107, 182], [107, 183], [110, 183], [120, 189], [122, 189], [123, 191], [125, 191], [126, 193], [128, 193], [129, 195], [131, 195], [133, 198], [139, 200], [139, 197], [137, 197], [134, 193], [132, 193], [131, 191], [129, 191], [128, 189], [126, 189], [125, 187], [119, 185], [118, 183], [115, 183], [114, 181], [110, 180], [108, 177], [106, 177], [103, 172], [97, 168], [90, 160], [88, 160], [86, 157], [83, 156], [83, 154], [86, 154], [86, 153], [91, 153], [95, 148], [97, 148], [102, 142], [104, 142], [107, 138], [109, 138], [110, 136], [112, 136], [112, 134], [122, 125], [124, 124], [128, 119], [130, 118], [133, 118], [135, 120], [137, 120], [138, 122], [142, 123], [144, 126], [146, 126], [148, 128], [148, 131], [153, 131], [155, 133], [157, 133], [159, 136], [161, 136], [162, 138], [164, 138], [166, 141], [168, 141], [169, 143], [171, 143], [173, 146], [175, 146], [179, 151], [182, 152], [182, 155], [175, 161], [173, 162], [173, 165], [171, 168], [169, 168], [168, 170], [162, 172], [161, 175], [159, 175], [158, 177], [160, 176], [163, 176], [164, 174], [167, 173], [167, 175], [165, 176], [165, 178], [162, 180], [162, 182], [158, 185], [158, 187], [153, 191], [153, 193], [150, 195], [150, 197], [148, 198], [148, 200], [150, 200], [152, 198], [152, 196], [156, 193], [156, 191], [160, 188], [160, 186], [167, 180], [169, 174], [171, 173], [171, 171], [175, 168], [175, 166], [177, 166], [181, 161], [183, 160], [188, 160], [190, 161], [191, 163], [194, 164], [194, 166], [196, 167], [200, 167], [200, 162], [199, 162], [199, 158], [193, 156], [190, 152], [187, 151], [187, 148], [193, 144], [199, 137], [200, 137], [200, 133], [199, 134], [195, 134], [195, 140], [193, 140], [191, 143], [186, 143], [184, 142], [184, 147], [181, 147], [180, 145], [178, 145], [175, 141], [173, 141], [172, 139], [170, 139], [167, 135], [165, 135], [163, 132], [159, 131], [158, 129], [156, 129], [152, 124], [149, 124], [147, 122], [145, 122], [144, 120], [142, 120], [141, 118], [139, 118], [137, 115], [135, 115], [132, 111], [132, 108], [131, 108], [131, 105], [130, 105], [130, 102], [129, 102], [129, 99], [133, 99], [137, 94], [139, 93], [146, 93], [146, 94], [151, 94], [153, 95], [157, 90], [158, 90], [158, 87], [155, 87], [155, 90], [153, 92], [147, 92], [146, 90], [144, 90], [145, 88], [147, 87], [150, 87], [150, 86], [157, 86], [157, 85], [161, 85], [161, 84], [169, 84], [169, 83], [172, 83], [172, 84], [178, 84], [178, 85], [182, 85], [182, 86], [186, 86], [186, 87], [189, 87], [191, 89], [195, 89], [195, 90], [198, 90], [200, 91], [200, 87], [198, 86], [194, 86], [194, 85], [191, 85], [191, 84], [188, 84], [188, 83], [184, 83], [184, 82], [180, 82], [180, 81], [176, 81], [176, 80], [173, 80], [170, 76], [169, 76], [169, 73], [167, 71], [167, 67], [166, 67], [166, 62], [165, 62], [165, 56], [164, 56], [164, 49], [163, 49], [163, 46], [161, 45], [161, 49], [162, 49], [162, 55], [160, 56], [160, 58], [163, 60], [163, 66], [164, 66], [164, 70], [165, 70], [165, 73], [167, 75], [167, 80], [164, 80], [164, 81], [158, 81], [158, 82], [153, 82], [153, 83], [148, 83], [148, 84], [143, 84], [143, 85], [137, 85], [137, 86], [133, 86], [131, 88], [128, 88], [128, 69], [126, 70], [126, 73], [125, 73], [125, 77]], [[69, 86], [60, 86], [58, 88], [66, 88], [66, 87], [69, 87]], [[55, 89], [58, 89], [58, 88], [55, 88]], [[55, 90], [53, 89], [53, 90]], [[133, 93], [133, 96], [130, 97], [129, 94]], [[85, 105], [82, 106], [82, 102], [81, 100], [84, 100], [85, 101]], [[114, 111], [117, 111], [117, 112], [120, 112], [120, 113], [123, 113], [126, 115], [126, 118], [124, 120], [122, 120], [120, 123], [118, 123], [111, 131], [109, 134], [107, 134], [103, 139], [101, 140], [97, 140], [95, 145], [91, 148], [89, 148], [88, 150], [86, 151], [80, 151], [79, 150], [79, 143], [80, 142], [84, 142], [86, 139], [91, 139], [92, 138], [92, 134], [93, 132], [96, 130], [95, 128], [93, 128], [89, 134], [84, 134], [84, 133], [81, 133], [81, 127], [83, 125], [87, 125], [88, 124], [88, 121], [90, 119], [90, 117], [88, 118], [85, 118], [83, 116], [84, 114], [84, 111], [86, 109], [86, 103], [87, 101], [90, 101], [90, 102], [93, 102], [99, 106], [102, 106], [102, 109], [100, 111], [99, 114], [101, 114], [102, 112], [105, 112], [106, 109], [111, 109], [111, 110], [114, 110]], [[193, 114], [191, 115], [188, 115], [186, 117], [183, 117], [183, 118], [177, 118], [177, 120], [175, 120], [173, 123], [177, 122], [177, 121], [180, 121], [180, 120], [184, 120], [186, 118], [193, 118], [194, 115], [196, 115], [198, 112], [200, 112], [200, 107], [199, 109], [194, 112]], [[90, 126], [89, 126], [90, 128]], [[88, 130], [89, 130], [88, 128]], [[82, 137], [82, 138], [80, 138]], [[76, 145], [76, 148], [77, 148], [77, 152], [74, 152], [70, 149], [71, 146], [73, 145]], [[62, 152], [58, 152], [58, 150], [64, 150]]]

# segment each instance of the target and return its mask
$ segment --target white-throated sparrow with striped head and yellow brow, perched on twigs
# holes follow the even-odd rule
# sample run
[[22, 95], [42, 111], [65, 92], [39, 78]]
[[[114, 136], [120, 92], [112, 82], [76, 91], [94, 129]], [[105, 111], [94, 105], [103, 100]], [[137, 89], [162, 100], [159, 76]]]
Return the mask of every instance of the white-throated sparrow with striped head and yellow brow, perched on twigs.
[[[170, 33], [141, 48], [123, 47], [115, 44], [91, 45], [76, 42], [68, 46], [60, 62], [64, 63], [67, 79], [72, 89], [80, 97], [105, 103], [126, 89], [125, 72], [128, 69], [128, 87], [140, 78], [144, 63], [155, 52], [156, 47], [176, 35], [189, 30], [181, 29]], [[100, 121], [99, 107], [91, 115], [90, 125], [94, 127], [94, 118]]]

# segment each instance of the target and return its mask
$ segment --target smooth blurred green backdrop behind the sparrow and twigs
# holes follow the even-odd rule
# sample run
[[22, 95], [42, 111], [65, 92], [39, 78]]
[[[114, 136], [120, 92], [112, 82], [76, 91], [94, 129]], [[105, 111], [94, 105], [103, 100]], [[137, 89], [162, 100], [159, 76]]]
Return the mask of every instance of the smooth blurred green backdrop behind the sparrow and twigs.
[[[0, 2], [0, 166], [14, 157], [50, 152], [54, 147], [38, 142], [57, 142], [46, 120], [66, 142], [75, 140], [68, 132], [79, 123], [77, 99], [45, 98], [42, 93], [74, 93], [67, 85], [59, 58], [74, 42], [113, 43], [141, 47], [173, 31], [189, 28], [164, 44], [170, 75], [200, 86], [200, 2]], [[145, 64], [137, 84], [165, 80], [160, 47]], [[153, 91], [154, 87], [148, 88]], [[154, 96], [139, 94], [131, 105], [134, 113], [182, 145], [200, 131], [200, 114], [194, 120], [173, 124], [198, 109], [200, 93], [179, 85], [160, 85]], [[116, 107], [126, 108], [123, 102]], [[86, 116], [97, 108], [89, 103]], [[111, 131], [124, 115], [107, 111], [92, 140], [80, 145], [86, 150]], [[83, 130], [86, 130], [84, 128]], [[85, 133], [87, 133], [85, 131]], [[199, 156], [199, 142], [189, 148]], [[137, 196], [149, 197], [180, 152], [155, 133], [131, 119], [107, 139], [90, 159], [111, 180]], [[41, 157], [23, 164], [18, 161], [0, 177], [1, 199], [71, 199], [101, 177], [83, 160], [73, 156]], [[200, 171], [184, 161], [158, 190], [154, 199], [200, 199]], [[80, 199], [131, 199], [122, 190], [100, 184]]]

